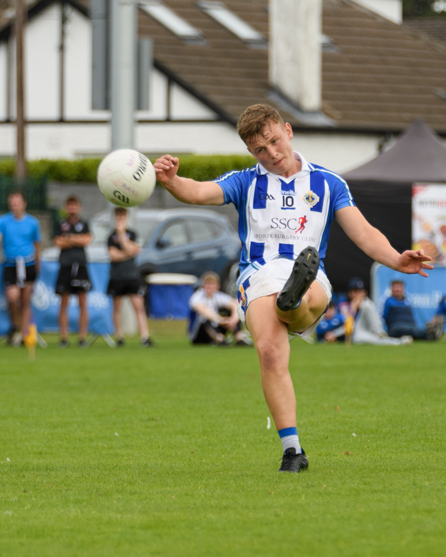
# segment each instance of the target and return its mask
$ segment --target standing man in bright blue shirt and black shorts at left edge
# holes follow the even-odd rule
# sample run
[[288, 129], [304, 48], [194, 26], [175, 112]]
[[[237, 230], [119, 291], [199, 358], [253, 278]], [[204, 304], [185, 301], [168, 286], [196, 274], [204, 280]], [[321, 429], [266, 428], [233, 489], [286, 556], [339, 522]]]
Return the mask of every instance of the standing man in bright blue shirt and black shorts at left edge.
[[8, 342], [19, 345], [30, 322], [32, 285], [39, 270], [41, 231], [39, 221], [26, 213], [26, 201], [21, 193], [10, 193], [8, 206], [10, 213], [0, 217], [0, 238], [6, 259], [3, 288], [11, 317]]

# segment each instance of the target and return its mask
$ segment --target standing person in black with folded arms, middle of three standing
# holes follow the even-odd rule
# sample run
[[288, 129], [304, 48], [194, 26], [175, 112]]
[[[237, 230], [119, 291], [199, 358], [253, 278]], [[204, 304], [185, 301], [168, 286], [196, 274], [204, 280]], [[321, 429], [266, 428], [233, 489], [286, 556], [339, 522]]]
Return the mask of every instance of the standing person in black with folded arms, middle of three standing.
[[91, 284], [84, 247], [90, 244], [92, 236], [88, 224], [79, 217], [82, 210], [79, 199], [74, 196], [68, 197], [65, 208], [68, 217], [57, 225], [54, 240], [55, 246], [60, 248], [60, 269], [56, 284], [56, 293], [61, 296], [59, 313], [61, 342], [59, 346], [61, 348], [68, 346], [68, 300], [70, 294], [75, 294], [79, 300], [80, 310], [79, 346], [85, 347], [88, 332], [86, 293], [91, 289]]

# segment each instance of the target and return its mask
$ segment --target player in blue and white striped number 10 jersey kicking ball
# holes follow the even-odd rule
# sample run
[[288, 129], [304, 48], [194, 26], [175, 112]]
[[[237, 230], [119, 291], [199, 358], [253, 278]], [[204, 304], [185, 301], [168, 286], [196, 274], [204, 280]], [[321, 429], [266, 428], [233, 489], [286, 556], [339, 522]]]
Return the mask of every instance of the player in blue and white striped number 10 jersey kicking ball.
[[[157, 179], [180, 201], [197, 205], [233, 203], [242, 240], [237, 311], [258, 353], [266, 404], [284, 454], [279, 471], [308, 468], [296, 429], [296, 402], [289, 374], [289, 333], [309, 337], [331, 300], [324, 273], [329, 226], [334, 217], [347, 235], [374, 260], [402, 273], [433, 268], [422, 250], [400, 255], [353, 203], [345, 181], [293, 153], [293, 130], [267, 105], [241, 115], [237, 130], [258, 160], [253, 168], [214, 182], [177, 176], [179, 161], [155, 162]], [[302, 230], [302, 216], [306, 216]], [[296, 231], [300, 232], [296, 234]]]

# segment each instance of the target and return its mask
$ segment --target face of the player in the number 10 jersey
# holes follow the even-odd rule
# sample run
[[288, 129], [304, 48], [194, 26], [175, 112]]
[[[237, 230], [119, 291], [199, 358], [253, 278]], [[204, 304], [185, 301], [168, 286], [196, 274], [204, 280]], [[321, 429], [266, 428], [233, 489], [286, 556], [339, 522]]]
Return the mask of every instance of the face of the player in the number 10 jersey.
[[288, 122], [284, 125], [270, 122], [264, 135], [247, 141], [248, 150], [268, 172], [289, 177], [300, 170], [291, 146], [292, 137], [293, 130]]

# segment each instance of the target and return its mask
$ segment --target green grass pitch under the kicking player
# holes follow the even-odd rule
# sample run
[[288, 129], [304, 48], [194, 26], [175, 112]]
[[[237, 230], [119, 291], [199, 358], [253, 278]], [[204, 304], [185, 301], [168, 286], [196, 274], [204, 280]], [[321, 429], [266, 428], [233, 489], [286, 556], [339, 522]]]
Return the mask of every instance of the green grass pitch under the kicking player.
[[445, 555], [445, 342], [293, 341], [310, 467], [279, 474], [255, 351], [183, 327], [0, 346], [2, 557]]

